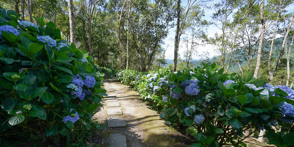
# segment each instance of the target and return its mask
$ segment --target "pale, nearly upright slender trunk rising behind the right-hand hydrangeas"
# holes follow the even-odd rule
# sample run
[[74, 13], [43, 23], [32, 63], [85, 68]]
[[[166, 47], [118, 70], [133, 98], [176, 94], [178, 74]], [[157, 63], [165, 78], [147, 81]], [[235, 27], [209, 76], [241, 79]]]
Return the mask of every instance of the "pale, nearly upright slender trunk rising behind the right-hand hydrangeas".
[[265, 0], [262, 0], [261, 4], [260, 4], [261, 33], [260, 33], [260, 39], [259, 39], [256, 67], [255, 67], [253, 77], [257, 77], [259, 67], [260, 67], [261, 49], [262, 49], [262, 44], [263, 44], [263, 36], [264, 36], [264, 32], [265, 32], [265, 21], [264, 21], [264, 14], [263, 14], [264, 1]]

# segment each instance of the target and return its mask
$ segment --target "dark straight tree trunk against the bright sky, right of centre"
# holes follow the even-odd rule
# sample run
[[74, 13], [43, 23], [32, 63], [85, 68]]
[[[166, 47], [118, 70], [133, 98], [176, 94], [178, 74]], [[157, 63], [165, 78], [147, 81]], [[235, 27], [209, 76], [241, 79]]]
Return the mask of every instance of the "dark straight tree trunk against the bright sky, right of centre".
[[178, 11], [177, 11], [177, 29], [176, 29], [176, 37], [175, 37], [175, 52], [174, 52], [174, 58], [173, 58], [173, 71], [177, 71], [177, 63], [178, 63], [178, 42], [180, 42], [180, 17], [181, 17], [181, 0], [178, 0]]

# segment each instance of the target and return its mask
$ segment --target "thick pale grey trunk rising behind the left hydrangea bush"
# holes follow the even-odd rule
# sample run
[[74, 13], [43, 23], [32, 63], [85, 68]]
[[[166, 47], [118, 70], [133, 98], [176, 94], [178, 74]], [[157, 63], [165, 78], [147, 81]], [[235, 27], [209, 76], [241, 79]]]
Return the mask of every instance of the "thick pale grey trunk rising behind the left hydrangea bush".
[[71, 43], [76, 46], [76, 24], [74, 18], [73, 0], [68, 0], [69, 6], [69, 28], [71, 34]]

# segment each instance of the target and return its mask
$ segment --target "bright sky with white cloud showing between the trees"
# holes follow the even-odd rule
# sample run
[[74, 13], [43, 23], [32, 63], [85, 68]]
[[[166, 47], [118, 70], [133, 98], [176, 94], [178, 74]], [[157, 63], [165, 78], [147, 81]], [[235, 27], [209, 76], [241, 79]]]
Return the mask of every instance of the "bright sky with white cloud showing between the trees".
[[[211, 2], [208, 2], [208, 6], [210, 5], [213, 5], [213, 4], [216, 4], [220, 2], [220, 0], [213, 0]], [[187, 4], [187, 0], [182, 0], [182, 6], [186, 6]], [[265, 4], [267, 4], [267, 2], [265, 2]], [[287, 8], [288, 12], [293, 12], [294, 11], [294, 4], [291, 4], [288, 8]], [[208, 21], [211, 21], [211, 16], [213, 15], [214, 13], [214, 10], [213, 9], [204, 9], [204, 13], [205, 13], [205, 16], [203, 17], [203, 19], [206, 19]], [[176, 34], [176, 26], [169, 29], [169, 34], [168, 36], [164, 39], [164, 43], [165, 45], [163, 45], [164, 48], [166, 48], [166, 45], [167, 44], [170, 44], [170, 46], [167, 48], [166, 50], [166, 54], [165, 54], [165, 58], [166, 59], [173, 59], [174, 58], [174, 39], [175, 39], [175, 34]], [[208, 31], [207, 31], [207, 34], [208, 34], [208, 37], [213, 37], [214, 34], [216, 32], [220, 32], [221, 30], [219, 28], [217, 28], [215, 25], [210, 25], [208, 27]], [[183, 35], [182, 35], [183, 36]], [[182, 44], [182, 46], [181, 46]], [[179, 51], [178, 53], [180, 54], [181, 58], [183, 59], [183, 52], [185, 50], [185, 44], [183, 44], [183, 42], [180, 42], [180, 47], [179, 47]], [[213, 56], [216, 56], [216, 55], [219, 55], [219, 52], [216, 51], [216, 47], [215, 46], [212, 46], [210, 44], [207, 44], [205, 46], [198, 46], [197, 48], [197, 52], [198, 54], [194, 54], [192, 56], [193, 60], [199, 60], [201, 57], [199, 55], [202, 54], [202, 52], [206, 52], [208, 51], [210, 54], [209, 54], [209, 57], [212, 58]]]

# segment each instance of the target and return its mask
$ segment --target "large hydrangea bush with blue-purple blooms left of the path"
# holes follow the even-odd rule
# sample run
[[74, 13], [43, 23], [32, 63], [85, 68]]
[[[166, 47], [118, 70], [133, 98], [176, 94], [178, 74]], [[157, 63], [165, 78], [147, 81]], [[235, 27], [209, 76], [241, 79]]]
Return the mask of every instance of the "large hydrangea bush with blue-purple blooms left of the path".
[[[39, 27], [0, 7], [1, 132], [26, 126], [41, 135], [91, 130], [106, 90], [92, 57], [66, 44], [52, 22]], [[86, 61], [85, 61], [86, 59]]]

